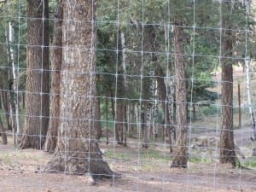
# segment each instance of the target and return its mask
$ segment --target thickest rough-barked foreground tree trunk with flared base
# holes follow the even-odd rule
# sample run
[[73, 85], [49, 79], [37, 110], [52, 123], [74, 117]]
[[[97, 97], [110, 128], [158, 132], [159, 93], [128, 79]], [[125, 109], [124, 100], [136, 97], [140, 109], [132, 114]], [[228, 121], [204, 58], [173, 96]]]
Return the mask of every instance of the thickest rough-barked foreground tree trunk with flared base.
[[112, 177], [102, 160], [93, 127], [96, 103], [96, 0], [63, 2], [63, 60], [61, 70], [61, 122], [49, 172]]

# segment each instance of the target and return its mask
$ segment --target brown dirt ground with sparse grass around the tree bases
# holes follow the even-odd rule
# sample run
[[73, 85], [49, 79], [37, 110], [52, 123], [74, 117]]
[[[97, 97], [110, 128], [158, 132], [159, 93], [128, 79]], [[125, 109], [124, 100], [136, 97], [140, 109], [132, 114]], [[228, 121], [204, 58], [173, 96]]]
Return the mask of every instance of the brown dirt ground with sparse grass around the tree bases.
[[[239, 131], [236, 136], [240, 138]], [[256, 170], [234, 169], [217, 160], [189, 162], [188, 169], [170, 168], [172, 161], [165, 144], [154, 143], [146, 150], [137, 140], [129, 141], [126, 148], [100, 143], [104, 159], [121, 177], [96, 180], [96, 185], [90, 184], [88, 176], [43, 172], [51, 158], [44, 151], [0, 144], [0, 191], [256, 191]]]

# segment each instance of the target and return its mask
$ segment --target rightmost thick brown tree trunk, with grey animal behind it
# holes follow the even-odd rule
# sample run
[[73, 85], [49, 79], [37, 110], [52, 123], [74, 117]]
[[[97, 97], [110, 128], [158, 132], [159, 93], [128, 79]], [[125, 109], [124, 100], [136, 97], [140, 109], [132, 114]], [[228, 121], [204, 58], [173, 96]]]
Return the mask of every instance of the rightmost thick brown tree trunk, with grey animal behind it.
[[[222, 3], [222, 5], [225, 3]], [[224, 10], [224, 9], [223, 9]], [[236, 151], [233, 136], [233, 67], [232, 59], [232, 32], [227, 26], [229, 20], [223, 18], [222, 31], [222, 73], [221, 73], [221, 102], [222, 126], [220, 131], [219, 161], [236, 166]], [[229, 25], [229, 24], [228, 24]], [[229, 28], [229, 30], [226, 30]]]

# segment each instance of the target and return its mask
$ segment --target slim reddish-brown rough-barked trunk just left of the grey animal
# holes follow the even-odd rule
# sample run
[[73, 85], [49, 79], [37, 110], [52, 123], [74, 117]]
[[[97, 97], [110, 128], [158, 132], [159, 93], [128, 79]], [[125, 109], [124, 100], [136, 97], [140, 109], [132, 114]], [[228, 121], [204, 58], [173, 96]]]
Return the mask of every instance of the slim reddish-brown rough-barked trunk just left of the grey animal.
[[187, 167], [187, 102], [183, 51], [183, 28], [181, 20], [175, 21], [173, 29], [175, 48], [176, 108], [177, 108], [177, 146], [174, 151], [172, 167]]

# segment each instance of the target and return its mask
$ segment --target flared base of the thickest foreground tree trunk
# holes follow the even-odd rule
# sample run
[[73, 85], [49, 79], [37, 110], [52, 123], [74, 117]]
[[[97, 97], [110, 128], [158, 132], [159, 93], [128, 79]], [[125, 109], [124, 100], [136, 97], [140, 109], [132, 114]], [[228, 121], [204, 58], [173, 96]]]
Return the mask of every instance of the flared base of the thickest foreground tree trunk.
[[96, 154], [93, 157], [81, 157], [81, 152], [74, 152], [69, 157], [57, 152], [55, 158], [50, 160], [45, 166], [44, 172], [50, 173], [65, 173], [73, 175], [84, 175], [89, 173], [94, 179], [102, 177], [113, 177], [113, 172], [108, 166], [108, 163], [102, 160], [101, 154]]

